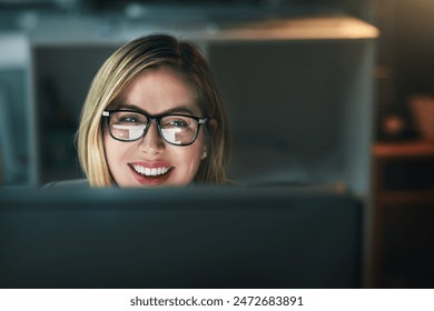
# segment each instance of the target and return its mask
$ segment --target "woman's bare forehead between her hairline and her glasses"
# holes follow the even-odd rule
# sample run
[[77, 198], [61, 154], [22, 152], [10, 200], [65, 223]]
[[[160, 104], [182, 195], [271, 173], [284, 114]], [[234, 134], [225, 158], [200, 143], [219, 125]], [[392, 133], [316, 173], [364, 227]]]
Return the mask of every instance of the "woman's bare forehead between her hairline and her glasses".
[[134, 106], [150, 114], [185, 107], [194, 113], [200, 111], [190, 83], [170, 69], [145, 70], [136, 76], [111, 108]]

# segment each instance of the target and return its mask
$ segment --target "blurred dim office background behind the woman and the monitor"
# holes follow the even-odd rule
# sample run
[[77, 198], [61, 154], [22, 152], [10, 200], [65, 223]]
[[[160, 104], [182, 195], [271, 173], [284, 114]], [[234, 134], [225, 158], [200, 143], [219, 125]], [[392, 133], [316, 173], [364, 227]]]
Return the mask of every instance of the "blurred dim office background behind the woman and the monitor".
[[433, 17], [428, 0], [2, 0], [0, 182], [80, 178], [73, 134], [99, 66], [171, 32], [215, 71], [234, 179], [349, 189], [366, 207], [366, 284], [432, 287], [434, 117], [414, 107], [434, 104]]

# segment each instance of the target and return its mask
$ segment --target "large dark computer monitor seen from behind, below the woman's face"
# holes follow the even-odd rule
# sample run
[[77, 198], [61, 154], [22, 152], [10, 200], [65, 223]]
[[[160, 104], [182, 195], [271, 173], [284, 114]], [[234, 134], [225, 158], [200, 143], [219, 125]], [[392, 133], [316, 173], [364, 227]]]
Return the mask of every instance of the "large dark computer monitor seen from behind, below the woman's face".
[[0, 288], [358, 288], [361, 222], [328, 191], [0, 189]]

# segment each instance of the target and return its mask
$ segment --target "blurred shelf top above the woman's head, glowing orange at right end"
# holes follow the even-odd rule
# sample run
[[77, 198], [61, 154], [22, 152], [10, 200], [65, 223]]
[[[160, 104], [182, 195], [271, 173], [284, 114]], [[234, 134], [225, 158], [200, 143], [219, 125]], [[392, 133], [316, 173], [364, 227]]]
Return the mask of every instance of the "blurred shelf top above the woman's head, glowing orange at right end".
[[[376, 27], [347, 16], [255, 17], [241, 21], [210, 21], [177, 17], [129, 20], [98, 16], [33, 17], [27, 30], [33, 44], [120, 43], [156, 32], [167, 32], [191, 41], [282, 41], [376, 39]], [[67, 36], [66, 36], [67, 34]]]

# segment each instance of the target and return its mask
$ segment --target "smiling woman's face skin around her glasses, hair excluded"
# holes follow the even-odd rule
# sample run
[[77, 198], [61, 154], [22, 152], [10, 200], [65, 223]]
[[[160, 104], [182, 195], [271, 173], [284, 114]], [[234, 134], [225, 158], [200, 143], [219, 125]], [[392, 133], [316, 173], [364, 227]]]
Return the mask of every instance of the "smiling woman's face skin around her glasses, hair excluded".
[[[181, 113], [201, 116], [191, 88], [180, 76], [167, 69], [137, 76], [109, 109], [128, 109], [148, 116]], [[158, 133], [151, 122], [145, 137], [136, 141], [115, 140], [103, 131], [106, 157], [119, 187], [187, 185], [206, 157], [203, 128], [189, 146], [174, 146]]]

